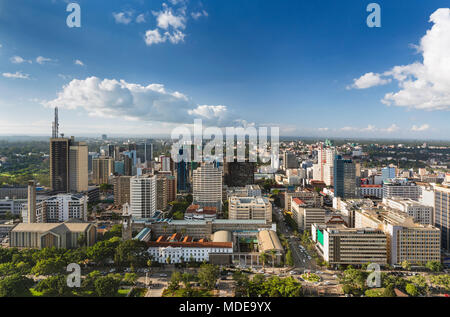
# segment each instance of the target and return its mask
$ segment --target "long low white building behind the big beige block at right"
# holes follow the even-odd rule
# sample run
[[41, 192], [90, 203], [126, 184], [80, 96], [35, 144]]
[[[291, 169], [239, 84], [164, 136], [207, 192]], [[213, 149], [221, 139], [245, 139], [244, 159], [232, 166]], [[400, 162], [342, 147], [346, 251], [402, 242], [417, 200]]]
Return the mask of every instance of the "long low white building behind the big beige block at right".
[[383, 204], [389, 208], [397, 209], [413, 217], [414, 222], [422, 225], [433, 225], [433, 207], [423, 205], [412, 199], [384, 198]]

